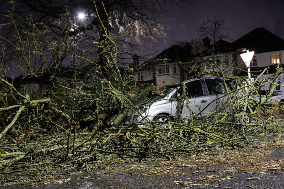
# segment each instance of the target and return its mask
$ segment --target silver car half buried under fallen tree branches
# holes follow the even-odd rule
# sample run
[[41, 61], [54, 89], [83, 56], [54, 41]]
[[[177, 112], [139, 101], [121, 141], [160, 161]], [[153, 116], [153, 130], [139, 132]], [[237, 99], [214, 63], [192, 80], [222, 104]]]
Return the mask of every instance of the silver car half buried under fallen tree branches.
[[[232, 80], [207, 77], [189, 79], [176, 85], [177, 87], [170, 87], [163, 90], [161, 96], [155, 96], [151, 102], [141, 106], [141, 115], [136, 116], [136, 121], [166, 121], [168, 119], [175, 120], [176, 118], [190, 118], [194, 115], [201, 118], [211, 114], [220, 109], [224, 102], [227, 101], [228, 95], [225, 95], [226, 89], [232, 91], [237, 88]], [[179, 101], [180, 95], [183, 95], [183, 87], [186, 87], [186, 96], [184, 104], [181, 109]], [[250, 121], [250, 119], [248, 120]]]

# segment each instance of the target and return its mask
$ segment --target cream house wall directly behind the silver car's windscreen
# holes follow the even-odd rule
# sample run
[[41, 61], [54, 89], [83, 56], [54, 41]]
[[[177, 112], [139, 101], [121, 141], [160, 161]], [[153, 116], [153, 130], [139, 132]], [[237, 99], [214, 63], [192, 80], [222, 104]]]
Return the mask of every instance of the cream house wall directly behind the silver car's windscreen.
[[[167, 85], [167, 84], [177, 84], [180, 82], [180, 69], [176, 63], [167, 63], [169, 65], [168, 74], [159, 74], [159, 66], [156, 68], [156, 83], [157, 86]], [[162, 64], [164, 66], [166, 64]], [[177, 67], [177, 73], [173, 73], [174, 65]]]

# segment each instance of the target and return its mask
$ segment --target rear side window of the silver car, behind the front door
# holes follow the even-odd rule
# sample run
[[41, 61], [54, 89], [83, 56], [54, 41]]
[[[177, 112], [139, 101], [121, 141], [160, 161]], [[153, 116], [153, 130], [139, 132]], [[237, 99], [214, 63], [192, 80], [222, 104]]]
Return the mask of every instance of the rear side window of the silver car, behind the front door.
[[[225, 81], [229, 91], [232, 91], [235, 88], [233, 81]], [[226, 87], [220, 79], [205, 79], [205, 83], [208, 89], [209, 94], [221, 94], [226, 92]]]

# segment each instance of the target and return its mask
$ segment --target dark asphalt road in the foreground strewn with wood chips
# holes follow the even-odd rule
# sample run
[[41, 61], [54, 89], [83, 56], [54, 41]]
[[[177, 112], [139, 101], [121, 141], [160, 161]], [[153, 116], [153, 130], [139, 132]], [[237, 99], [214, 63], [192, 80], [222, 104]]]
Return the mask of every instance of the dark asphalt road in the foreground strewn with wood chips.
[[[281, 138], [282, 137], [282, 138]], [[136, 188], [275, 188], [284, 189], [283, 136], [263, 136], [276, 144], [255, 149], [225, 151], [227, 154], [206, 158], [192, 156], [171, 162], [154, 161], [117, 165], [80, 175], [66, 175], [46, 184], [7, 185], [13, 189], [136, 189]], [[257, 138], [259, 139], [259, 137]]]

